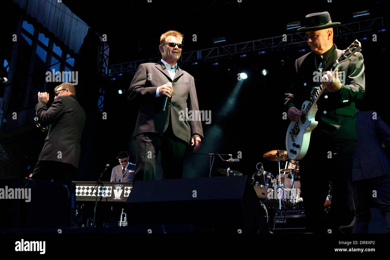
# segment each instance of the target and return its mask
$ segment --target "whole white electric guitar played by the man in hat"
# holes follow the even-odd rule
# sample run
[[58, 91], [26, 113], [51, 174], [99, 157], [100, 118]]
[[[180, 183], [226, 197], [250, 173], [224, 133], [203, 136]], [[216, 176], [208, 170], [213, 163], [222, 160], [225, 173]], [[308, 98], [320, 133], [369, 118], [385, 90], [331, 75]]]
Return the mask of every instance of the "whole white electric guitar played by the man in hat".
[[[360, 52], [362, 45], [355, 40], [351, 46], [343, 51], [333, 64], [334, 70], [340, 63], [352, 60], [356, 56], [356, 51]], [[332, 71], [332, 69], [330, 70]], [[322, 72], [322, 71], [321, 71]], [[334, 73], [333, 73], [334, 74]], [[317, 100], [324, 91], [324, 86], [314, 87], [310, 100], [303, 102], [301, 107], [302, 115], [297, 122], [291, 121], [286, 134], [286, 150], [290, 159], [301, 160], [305, 157], [310, 143], [310, 134], [316, 128], [318, 122], [315, 120], [317, 113]]]

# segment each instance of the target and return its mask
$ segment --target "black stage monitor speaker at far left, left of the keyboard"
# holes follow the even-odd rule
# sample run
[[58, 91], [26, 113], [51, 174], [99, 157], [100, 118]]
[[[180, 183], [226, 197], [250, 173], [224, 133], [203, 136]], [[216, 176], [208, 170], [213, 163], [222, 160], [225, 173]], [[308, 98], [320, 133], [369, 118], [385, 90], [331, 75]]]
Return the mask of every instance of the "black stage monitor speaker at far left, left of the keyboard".
[[75, 190], [71, 183], [0, 179], [0, 228], [70, 227]]

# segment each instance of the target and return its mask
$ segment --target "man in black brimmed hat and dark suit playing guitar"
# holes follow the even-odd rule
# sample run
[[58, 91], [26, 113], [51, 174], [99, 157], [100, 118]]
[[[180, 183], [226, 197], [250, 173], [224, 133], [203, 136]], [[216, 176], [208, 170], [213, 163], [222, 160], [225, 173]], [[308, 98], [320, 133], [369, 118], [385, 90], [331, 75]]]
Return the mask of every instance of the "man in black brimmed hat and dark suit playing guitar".
[[[333, 44], [333, 23], [328, 12], [308, 14], [305, 27], [310, 53], [295, 61], [294, 82], [286, 92], [285, 111], [290, 120], [301, 116], [300, 107], [310, 99], [313, 87], [323, 85], [317, 101], [317, 127], [312, 131], [306, 156], [300, 161], [301, 189], [308, 232], [349, 233], [355, 224], [352, 165], [356, 148], [355, 101], [363, 98], [365, 78], [363, 56], [357, 53], [331, 73], [342, 50]], [[349, 46], [348, 43], [347, 46]], [[314, 75], [323, 71], [322, 78]], [[341, 76], [342, 75], [342, 78]], [[340, 81], [340, 79], [342, 81]], [[330, 222], [325, 223], [324, 202], [333, 186]]]

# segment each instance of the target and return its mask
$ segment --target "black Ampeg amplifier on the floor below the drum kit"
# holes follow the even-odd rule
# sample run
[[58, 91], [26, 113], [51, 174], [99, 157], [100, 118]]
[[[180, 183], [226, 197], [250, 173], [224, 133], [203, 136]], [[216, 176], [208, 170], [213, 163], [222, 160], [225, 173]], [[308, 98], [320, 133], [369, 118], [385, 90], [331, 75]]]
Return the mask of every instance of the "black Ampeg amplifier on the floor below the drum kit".
[[275, 210], [273, 230], [293, 230], [305, 228], [305, 210]]

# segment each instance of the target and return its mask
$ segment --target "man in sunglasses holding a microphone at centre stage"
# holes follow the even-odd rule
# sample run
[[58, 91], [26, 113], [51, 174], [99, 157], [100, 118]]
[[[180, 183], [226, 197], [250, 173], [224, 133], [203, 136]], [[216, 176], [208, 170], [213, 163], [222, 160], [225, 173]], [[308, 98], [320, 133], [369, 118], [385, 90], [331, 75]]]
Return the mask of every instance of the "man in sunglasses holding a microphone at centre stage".
[[[177, 65], [183, 34], [168, 31], [160, 37], [161, 60], [138, 67], [128, 99], [140, 104], [134, 139], [137, 149], [135, 181], [154, 180], [161, 150], [163, 179], [180, 179], [187, 147], [199, 149], [201, 121], [183, 120], [180, 111], [199, 111], [195, 80]], [[163, 107], [164, 101], [166, 106]]]

